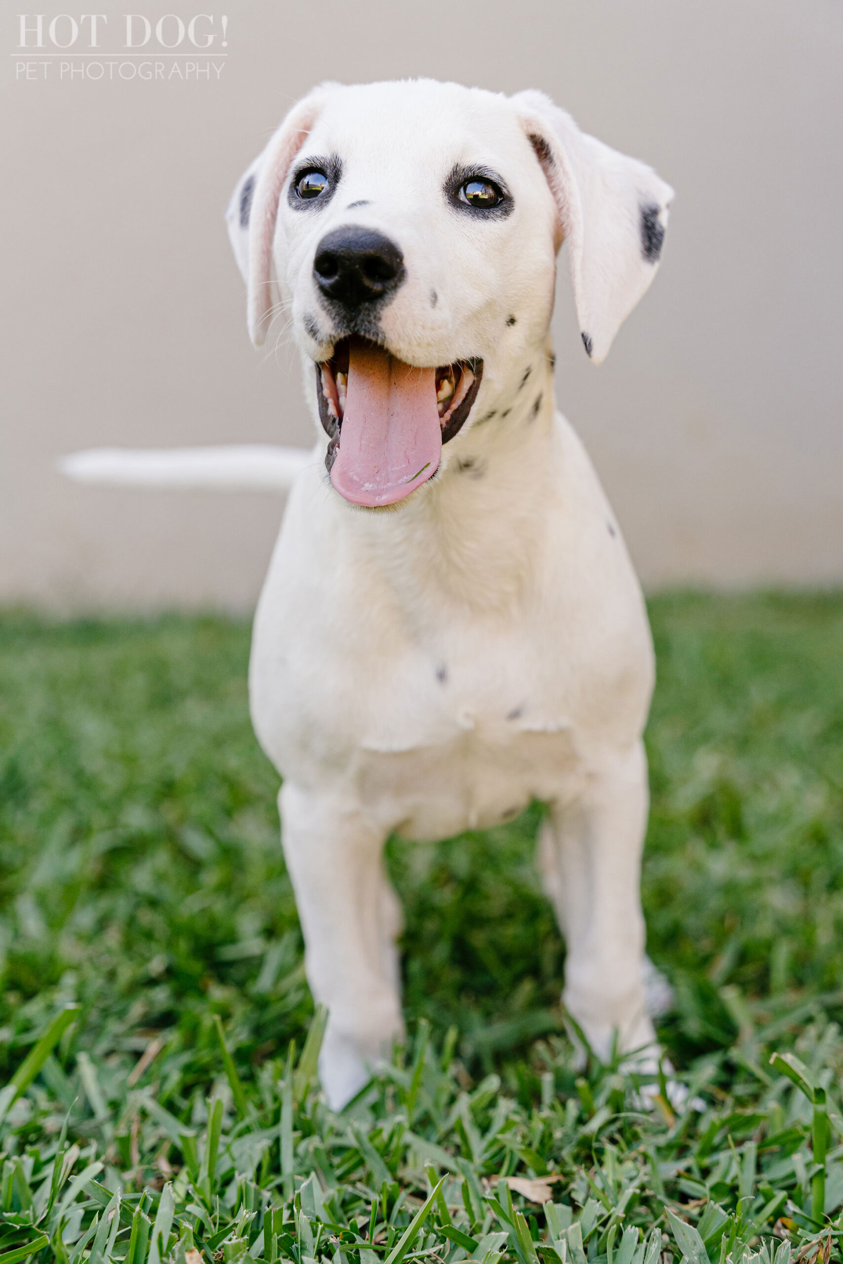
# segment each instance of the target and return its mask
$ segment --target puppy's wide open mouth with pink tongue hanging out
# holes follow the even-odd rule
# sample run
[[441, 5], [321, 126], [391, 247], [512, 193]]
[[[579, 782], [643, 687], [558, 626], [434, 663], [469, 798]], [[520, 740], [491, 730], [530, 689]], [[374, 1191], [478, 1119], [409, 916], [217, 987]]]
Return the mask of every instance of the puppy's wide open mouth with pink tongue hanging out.
[[483, 360], [415, 368], [368, 339], [337, 343], [316, 365], [316, 396], [331, 439], [325, 464], [354, 504], [394, 504], [426, 483], [465, 422]]

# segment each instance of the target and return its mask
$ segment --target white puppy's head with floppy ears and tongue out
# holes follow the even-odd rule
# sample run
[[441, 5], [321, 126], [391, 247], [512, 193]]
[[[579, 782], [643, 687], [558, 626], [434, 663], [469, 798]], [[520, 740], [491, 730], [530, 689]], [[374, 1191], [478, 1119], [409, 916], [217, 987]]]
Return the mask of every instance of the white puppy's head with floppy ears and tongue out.
[[393, 504], [436, 473], [543, 345], [564, 239], [600, 363], [652, 281], [671, 196], [541, 92], [329, 83], [293, 106], [226, 217], [253, 343], [283, 308], [315, 365], [336, 490]]

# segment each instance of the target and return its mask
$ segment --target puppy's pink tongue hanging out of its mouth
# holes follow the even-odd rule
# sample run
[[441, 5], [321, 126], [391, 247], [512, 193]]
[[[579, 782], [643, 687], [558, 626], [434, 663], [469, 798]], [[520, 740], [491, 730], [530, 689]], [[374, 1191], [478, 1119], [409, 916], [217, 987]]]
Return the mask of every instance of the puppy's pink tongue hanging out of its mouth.
[[331, 483], [353, 504], [394, 504], [439, 466], [436, 369], [413, 369], [355, 340], [346, 391]]

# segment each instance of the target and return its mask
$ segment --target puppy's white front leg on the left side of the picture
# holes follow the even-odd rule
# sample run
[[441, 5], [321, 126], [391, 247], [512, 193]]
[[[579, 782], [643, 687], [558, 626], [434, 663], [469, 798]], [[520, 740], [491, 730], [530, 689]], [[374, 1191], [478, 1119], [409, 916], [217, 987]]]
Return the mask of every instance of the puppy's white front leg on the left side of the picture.
[[339, 1110], [403, 1034], [396, 948], [401, 908], [383, 870], [382, 828], [330, 794], [291, 782], [278, 803], [307, 981], [329, 1009], [320, 1077]]

